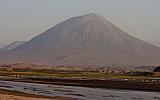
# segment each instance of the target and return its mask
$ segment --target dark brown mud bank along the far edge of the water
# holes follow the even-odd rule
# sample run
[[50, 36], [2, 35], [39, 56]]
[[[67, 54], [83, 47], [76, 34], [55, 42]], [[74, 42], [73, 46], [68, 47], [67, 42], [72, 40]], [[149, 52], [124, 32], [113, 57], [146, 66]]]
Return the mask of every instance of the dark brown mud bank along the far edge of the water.
[[54, 84], [91, 88], [120, 89], [133, 91], [160, 92], [160, 81], [141, 82], [133, 80], [71, 80], [71, 79], [0, 79], [3, 81], [26, 82], [38, 84]]

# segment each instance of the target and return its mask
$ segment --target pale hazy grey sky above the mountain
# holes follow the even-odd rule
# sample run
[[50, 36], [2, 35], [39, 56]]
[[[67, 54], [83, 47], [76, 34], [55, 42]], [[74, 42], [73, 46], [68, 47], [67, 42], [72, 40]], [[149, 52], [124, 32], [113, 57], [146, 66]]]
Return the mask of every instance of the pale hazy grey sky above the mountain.
[[29, 40], [88, 13], [100, 14], [145, 41], [160, 42], [160, 0], [0, 0], [0, 42]]

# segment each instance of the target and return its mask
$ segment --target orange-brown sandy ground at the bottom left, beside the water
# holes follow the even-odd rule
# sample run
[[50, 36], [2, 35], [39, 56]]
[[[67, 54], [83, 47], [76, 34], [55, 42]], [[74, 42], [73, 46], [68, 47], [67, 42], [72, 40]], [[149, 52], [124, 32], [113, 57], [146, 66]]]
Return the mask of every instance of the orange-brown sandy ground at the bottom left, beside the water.
[[63, 97], [47, 97], [0, 89], [0, 100], [69, 100]]

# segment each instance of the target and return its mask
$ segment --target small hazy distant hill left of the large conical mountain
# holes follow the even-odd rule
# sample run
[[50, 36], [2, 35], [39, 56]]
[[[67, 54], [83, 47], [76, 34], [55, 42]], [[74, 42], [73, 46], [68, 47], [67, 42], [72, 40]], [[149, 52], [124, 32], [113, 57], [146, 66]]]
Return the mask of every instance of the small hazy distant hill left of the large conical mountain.
[[24, 44], [26, 41], [15, 41], [7, 46], [4, 46], [2, 48], [0, 48], [0, 52], [4, 52], [4, 51], [8, 51], [8, 50], [12, 50], [12, 49], [15, 49], [16, 47]]

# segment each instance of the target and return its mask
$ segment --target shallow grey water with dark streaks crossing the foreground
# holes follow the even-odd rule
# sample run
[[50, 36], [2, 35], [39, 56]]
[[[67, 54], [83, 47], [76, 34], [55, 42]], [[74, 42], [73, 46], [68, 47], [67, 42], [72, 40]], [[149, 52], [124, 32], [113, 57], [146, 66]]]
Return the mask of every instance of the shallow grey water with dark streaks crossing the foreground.
[[0, 81], [0, 89], [53, 97], [71, 97], [75, 100], [160, 100], [160, 98], [155, 98], [160, 97], [159, 92], [112, 90], [11, 81]]

